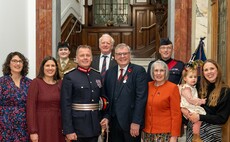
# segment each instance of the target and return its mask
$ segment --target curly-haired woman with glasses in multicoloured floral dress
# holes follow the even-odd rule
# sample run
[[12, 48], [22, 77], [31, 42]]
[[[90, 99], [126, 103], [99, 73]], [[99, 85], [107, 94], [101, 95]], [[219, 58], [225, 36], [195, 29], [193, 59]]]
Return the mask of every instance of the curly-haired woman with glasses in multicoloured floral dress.
[[19, 52], [11, 52], [0, 77], [0, 141], [27, 142], [26, 99], [31, 80], [28, 61]]

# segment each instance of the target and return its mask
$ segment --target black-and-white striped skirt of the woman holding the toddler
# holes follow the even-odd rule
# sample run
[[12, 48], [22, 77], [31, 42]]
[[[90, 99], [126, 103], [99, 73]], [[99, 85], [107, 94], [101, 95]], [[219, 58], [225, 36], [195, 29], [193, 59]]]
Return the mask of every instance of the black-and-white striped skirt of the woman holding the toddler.
[[[213, 125], [202, 122], [200, 127], [200, 137], [204, 142], [221, 142], [222, 141], [221, 125]], [[186, 130], [186, 142], [192, 142], [193, 132], [192, 123], [189, 121]]]

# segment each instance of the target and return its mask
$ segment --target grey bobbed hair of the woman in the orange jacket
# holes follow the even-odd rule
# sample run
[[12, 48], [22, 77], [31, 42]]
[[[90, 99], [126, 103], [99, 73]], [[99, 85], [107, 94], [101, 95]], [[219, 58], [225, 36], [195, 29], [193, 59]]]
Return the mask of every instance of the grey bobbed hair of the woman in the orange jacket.
[[161, 60], [156, 60], [152, 65], [151, 65], [151, 70], [150, 70], [150, 76], [152, 78], [152, 80], [154, 80], [154, 69], [156, 65], [161, 65], [163, 66], [163, 68], [165, 69], [165, 80], [168, 80], [169, 78], [169, 69], [168, 69], [168, 65], [161, 61]]

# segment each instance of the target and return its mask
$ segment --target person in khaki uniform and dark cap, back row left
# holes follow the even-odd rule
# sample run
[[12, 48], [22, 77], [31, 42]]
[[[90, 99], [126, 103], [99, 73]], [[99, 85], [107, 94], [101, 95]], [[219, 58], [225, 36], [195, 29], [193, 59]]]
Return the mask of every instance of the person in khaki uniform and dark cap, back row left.
[[64, 73], [77, 67], [77, 64], [69, 58], [70, 49], [68, 42], [58, 43], [58, 56], [57, 60], [58, 69], [61, 79], [63, 79]]

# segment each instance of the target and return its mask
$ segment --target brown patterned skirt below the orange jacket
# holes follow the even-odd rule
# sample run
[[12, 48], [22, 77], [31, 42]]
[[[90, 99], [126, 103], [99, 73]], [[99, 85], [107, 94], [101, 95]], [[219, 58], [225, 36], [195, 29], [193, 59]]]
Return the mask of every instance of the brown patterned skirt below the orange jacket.
[[143, 142], [169, 142], [170, 133], [162, 133], [162, 134], [150, 134], [150, 133], [142, 133]]

